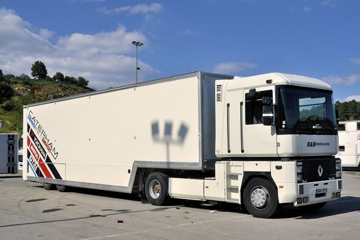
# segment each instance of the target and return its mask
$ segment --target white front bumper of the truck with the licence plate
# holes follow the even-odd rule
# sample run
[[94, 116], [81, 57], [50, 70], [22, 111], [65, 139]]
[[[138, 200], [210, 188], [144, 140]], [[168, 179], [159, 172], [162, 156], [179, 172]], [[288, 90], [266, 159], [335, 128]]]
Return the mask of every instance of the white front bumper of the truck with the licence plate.
[[342, 191], [342, 179], [298, 183], [297, 187], [298, 196], [294, 201], [294, 206], [329, 202], [339, 199]]

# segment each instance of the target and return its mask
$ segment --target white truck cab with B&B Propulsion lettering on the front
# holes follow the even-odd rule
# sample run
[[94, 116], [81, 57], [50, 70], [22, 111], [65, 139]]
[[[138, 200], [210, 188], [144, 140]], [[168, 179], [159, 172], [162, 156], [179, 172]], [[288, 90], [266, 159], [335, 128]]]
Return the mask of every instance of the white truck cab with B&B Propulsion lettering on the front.
[[[265, 186], [246, 192], [259, 179], [274, 187], [279, 204], [320, 208], [340, 197], [331, 86], [311, 77], [268, 73], [218, 80], [215, 95], [216, 156], [241, 163], [239, 202], [251, 214], [269, 217], [275, 211], [264, 210], [271, 195]], [[268, 197], [256, 201], [262, 199], [257, 193]]]

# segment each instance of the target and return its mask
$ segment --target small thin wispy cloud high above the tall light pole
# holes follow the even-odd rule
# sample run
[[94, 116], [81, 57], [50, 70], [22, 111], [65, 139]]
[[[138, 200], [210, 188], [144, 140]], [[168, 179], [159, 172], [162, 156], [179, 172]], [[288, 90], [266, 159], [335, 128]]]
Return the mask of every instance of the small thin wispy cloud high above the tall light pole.
[[120, 12], [129, 12], [131, 14], [149, 14], [149, 13], [160, 13], [164, 10], [164, 6], [160, 3], [150, 4], [138, 4], [138, 5], [127, 5], [120, 8], [113, 8], [108, 10], [107, 8], [100, 8], [99, 11], [105, 14], [118, 14]]

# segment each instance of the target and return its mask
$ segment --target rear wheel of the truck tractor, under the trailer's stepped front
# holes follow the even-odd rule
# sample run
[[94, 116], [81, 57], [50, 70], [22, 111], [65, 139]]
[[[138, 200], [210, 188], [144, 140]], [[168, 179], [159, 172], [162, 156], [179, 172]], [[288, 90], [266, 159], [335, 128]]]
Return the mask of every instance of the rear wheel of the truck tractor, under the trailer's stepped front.
[[151, 173], [145, 182], [147, 200], [155, 206], [160, 206], [168, 198], [168, 176], [164, 173]]

